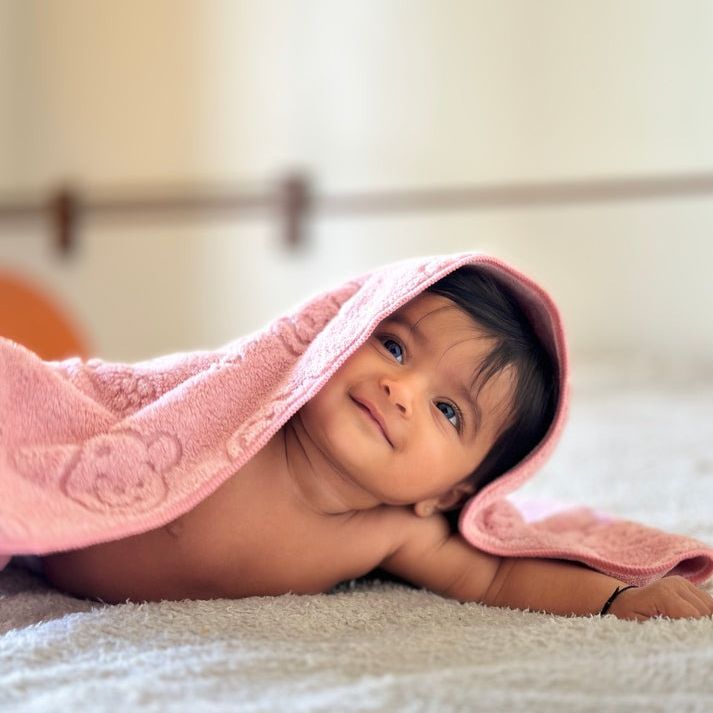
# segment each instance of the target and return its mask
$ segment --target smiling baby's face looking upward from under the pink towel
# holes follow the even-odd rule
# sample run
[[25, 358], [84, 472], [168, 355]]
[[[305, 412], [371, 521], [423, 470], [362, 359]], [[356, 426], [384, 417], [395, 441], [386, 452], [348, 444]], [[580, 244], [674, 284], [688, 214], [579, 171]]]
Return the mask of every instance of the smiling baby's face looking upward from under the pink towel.
[[479, 393], [473, 383], [492, 347], [450, 300], [424, 293], [377, 327], [302, 408], [302, 423], [378, 502], [439, 496], [475, 470], [507, 420], [511, 372]]

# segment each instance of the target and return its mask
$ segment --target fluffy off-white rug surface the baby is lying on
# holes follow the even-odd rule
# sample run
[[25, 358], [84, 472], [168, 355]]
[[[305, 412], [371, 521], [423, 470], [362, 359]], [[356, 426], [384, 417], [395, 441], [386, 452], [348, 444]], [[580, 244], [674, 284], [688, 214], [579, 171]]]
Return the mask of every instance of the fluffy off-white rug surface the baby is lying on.
[[[565, 437], [527, 493], [713, 544], [713, 378], [575, 373]], [[711, 711], [713, 620], [565, 619], [386, 583], [105, 607], [0, 573], [0, 710], [79, 707]]]

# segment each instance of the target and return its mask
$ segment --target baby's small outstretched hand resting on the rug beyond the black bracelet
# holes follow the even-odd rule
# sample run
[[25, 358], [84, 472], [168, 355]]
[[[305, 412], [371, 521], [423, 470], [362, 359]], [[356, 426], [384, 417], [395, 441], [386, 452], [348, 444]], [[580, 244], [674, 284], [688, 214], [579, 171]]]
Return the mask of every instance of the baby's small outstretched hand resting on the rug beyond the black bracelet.
[[627, 589], [609, 608], [619, 619], [644, 621], [655, 616], [697, 619], [713, 614], [713, 597], [679, 576], [663, 577], [646, 587]]

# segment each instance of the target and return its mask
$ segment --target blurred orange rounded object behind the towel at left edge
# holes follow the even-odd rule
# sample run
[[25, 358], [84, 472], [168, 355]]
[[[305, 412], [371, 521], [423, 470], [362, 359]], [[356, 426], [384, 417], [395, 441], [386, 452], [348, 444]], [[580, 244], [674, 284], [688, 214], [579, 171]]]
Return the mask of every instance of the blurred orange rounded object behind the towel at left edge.
[[45, 360], [86, 357], [87, 345], [72, 320], [26, 280], [0, 272], [0, 336]]

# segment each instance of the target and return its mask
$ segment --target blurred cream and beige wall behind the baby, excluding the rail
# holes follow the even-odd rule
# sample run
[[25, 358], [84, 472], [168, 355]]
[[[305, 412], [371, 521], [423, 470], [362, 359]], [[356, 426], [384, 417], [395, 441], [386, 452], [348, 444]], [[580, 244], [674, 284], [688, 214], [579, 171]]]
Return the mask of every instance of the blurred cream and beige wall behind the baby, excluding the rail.
[[[701, 0], [0, 0], [0, 203], [63, 182], [317, 194], [713, 172]], [[560, 303], [576, 359], [713, 364], [713, 195], [279, 224], [0, 222], [0, 269], [91, 352], [217, 346], [411, 255], [481, 249]]]

